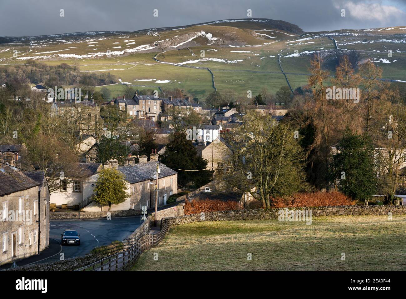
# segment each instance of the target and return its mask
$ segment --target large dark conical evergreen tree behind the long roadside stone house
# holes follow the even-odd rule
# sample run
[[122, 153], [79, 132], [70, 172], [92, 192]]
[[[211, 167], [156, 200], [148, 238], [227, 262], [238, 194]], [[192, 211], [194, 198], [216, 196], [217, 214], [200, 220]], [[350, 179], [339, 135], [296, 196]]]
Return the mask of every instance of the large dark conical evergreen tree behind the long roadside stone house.
[[[192, 141], [186, 139], [186, 134], [183, 132], [175, 132], [171, 141], [166, 145], [166, 151], [161, 156], [160, 161], [167, 167], [175, 169], [178, 173], [178, 182], [185, 186], [188, 184], [194, 186], [203, 186], [207, 184], [212, 173], [206, 170], [207, 160], [197, 155]], [[178, 169], [197, 170], [201, 171], [182, 171]]]

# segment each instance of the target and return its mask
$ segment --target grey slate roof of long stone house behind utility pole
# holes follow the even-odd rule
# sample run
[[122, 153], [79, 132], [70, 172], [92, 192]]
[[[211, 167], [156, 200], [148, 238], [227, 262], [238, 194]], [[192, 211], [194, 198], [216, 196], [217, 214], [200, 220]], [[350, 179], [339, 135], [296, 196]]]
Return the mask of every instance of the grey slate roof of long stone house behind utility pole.
[[[147, 163], [139, 163], [134, 166], [127, 165], [119, 167], [119, 171], [124, 174], [125, 180], [130, 184], [143, 182], [146, 180], [151, 180], [153, 178], [153, 173], [156, 171], [156, 165], [158, 162], [149, 161]], [[159, 165], [161, 173], [159, 174], [160, 178], [165, 178], [167, 176], [173, 176], [177, 174], [175, 170], [166, 167], [166, 165], [160, 163]]]

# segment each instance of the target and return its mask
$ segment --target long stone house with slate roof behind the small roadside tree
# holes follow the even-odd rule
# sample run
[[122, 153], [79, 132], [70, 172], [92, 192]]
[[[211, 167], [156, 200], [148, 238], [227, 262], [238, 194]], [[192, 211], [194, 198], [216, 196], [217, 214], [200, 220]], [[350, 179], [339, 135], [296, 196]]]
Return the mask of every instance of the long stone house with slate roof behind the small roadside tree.
[[[140, 156], [140, 163], [135, 164], [134, 158], [126, 158], [125, 165], [118, 166], [117, 160], [109, 160], [104, 164], [105, 168], [114, 168], [123, 173], [127, 182], [127, 193], [130, 195], [125, 202], [117, 205], [112, 205], [110, 210], [140, 210], [142, 206], [148, 208], [155, 207], [155, 179], [153, 178], [158, 164], [158, 154], [151, 154], [151, 161], [147, 161], [147, 156]], [[166, 200], [172, 194], [177, 193], [177, 172], [159, 163], [158, 177], [158, 206], [166, 205]], [[98, 174], [90, 178], [92, 181], [97, 181]], [[93, 193], [93, 188], [90, 188], [87, 193]], [[91, 189], [91, 190], [90, 190]], [[107, 211], [108, 206], [99, 206], [95, 202], [91, 202], [83, 208], [84, 211]]]

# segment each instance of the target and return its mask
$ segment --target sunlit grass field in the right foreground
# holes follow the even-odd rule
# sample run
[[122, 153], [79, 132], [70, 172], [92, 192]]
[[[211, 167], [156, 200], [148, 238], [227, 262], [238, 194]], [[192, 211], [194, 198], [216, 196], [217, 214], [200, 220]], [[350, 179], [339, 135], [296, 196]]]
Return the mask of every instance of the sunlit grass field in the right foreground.
[[131, 270], [405, 271], [406, 217], [313, 217], [311, 225], [278, 219], [177, 225]]

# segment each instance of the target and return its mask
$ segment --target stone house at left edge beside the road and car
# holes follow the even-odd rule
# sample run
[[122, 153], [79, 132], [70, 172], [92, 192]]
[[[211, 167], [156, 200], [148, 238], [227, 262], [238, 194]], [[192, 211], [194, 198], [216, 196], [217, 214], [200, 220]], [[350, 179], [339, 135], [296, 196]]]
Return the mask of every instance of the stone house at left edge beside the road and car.
[[39, 254], [48, 247], [49, 199], [43, 172], [0, 166], [0, 264]]

